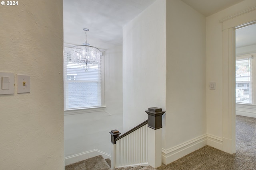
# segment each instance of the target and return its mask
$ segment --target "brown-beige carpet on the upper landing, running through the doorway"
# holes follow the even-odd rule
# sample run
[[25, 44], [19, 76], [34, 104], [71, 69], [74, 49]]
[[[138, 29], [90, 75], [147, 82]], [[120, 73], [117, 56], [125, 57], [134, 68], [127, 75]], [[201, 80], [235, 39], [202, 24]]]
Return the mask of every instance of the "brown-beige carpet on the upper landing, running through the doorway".
[[158, 170], [256, 170], [256, 118], [236, 116], [236, 154], [205, 146]]

